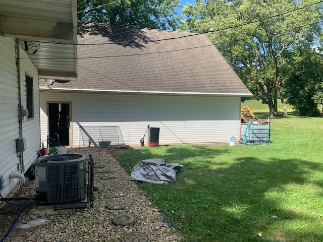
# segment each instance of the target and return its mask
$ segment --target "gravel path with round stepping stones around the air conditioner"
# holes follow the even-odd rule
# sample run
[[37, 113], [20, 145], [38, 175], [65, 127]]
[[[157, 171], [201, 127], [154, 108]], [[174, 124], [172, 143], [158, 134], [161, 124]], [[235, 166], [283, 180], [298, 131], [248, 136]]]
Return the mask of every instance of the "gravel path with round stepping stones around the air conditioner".
[[[158, 210], [151, 205], [144, 192], [129, 180], [129, 174], [113, 158], [109, 149], [78, 148], [71, 149], [69, 153], [82, 153], [87, 158], [89, 154], [92, 155], [94, 167], [96, 167], [94, 168], [94, 184], [98, 186], [98, 191], [94, 192], [93, 208], [57, 211], [53, 211], [53, 209], [36, 210], [36, 203], [33, 202], [23, 211], [15, 227], [4, 241], [121, 241], [123, 236], [129, 232], [145, 233], [149, 236], [150, 241], [181, 241], [181, 234], [163, 221]], [[120, 192], [124, 196], [106, 198], [107, 195], [115, 192]], [[35, 180], [32, 180], [27, 181], [16, 193], [16, 196], [32, 196], [34, 194]], [[123, 203], [126, 207], [123, 210], [106, 208], [107, 204], [115, 202]], [[0, 222], [1, 237], [6, 233], [21, 208], [19, 207], [17, 210], [17, 208], [12, 209], [11, 207], [12, 205], [5, 205], [0, 209], [0, 213], [3, 215], [0, 217], [2, 220]], [[125, 213], [134, 215], [136, 221], [130, 225], [115, 225], [113, 218], [118, 214]], [[36, 219], [47, 221], [36, 227], [19, 228], [19, 225]]]

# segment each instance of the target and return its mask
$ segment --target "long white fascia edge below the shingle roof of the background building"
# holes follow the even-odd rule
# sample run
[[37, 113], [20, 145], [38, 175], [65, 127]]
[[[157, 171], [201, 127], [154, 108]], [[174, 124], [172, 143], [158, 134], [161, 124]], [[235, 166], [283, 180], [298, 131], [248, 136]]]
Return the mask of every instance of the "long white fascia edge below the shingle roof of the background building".
[[79, 93], [130, 93], [130, 94], [168, 94], [168, 95], [206, 95], [206, 96], [239, 96], [251, 97], [251, 93], [204, 93], [204, 92], [153, 92], [153, 91], [116, 91], [116, 90], [94, 90], [94, 89], [68, 89], [68, 88], [39, 88], [42, 91], [61, 91], [61, 92], [79, 92]]

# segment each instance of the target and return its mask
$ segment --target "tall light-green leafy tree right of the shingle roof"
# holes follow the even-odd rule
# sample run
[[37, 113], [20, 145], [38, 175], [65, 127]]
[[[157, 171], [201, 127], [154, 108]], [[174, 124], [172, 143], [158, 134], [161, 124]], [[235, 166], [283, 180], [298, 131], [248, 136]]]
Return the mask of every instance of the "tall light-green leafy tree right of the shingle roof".
[[[281, 65], [284, 52], [313, 43], [320, 28], [321, 4], [315, 0], [196, 0], [187, 5], [180, 30], [208, 32], [209, 38], [232, 65], [246, 86], [256, 90], [278, 116], [278, 100], [286, 102]], [[297, 10], [298, 9], [298, 10]]]

